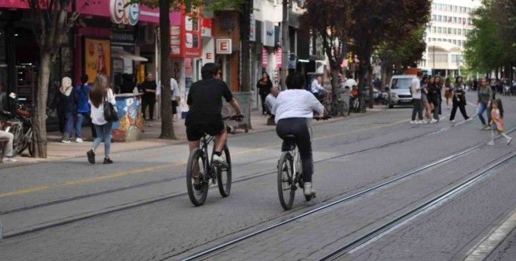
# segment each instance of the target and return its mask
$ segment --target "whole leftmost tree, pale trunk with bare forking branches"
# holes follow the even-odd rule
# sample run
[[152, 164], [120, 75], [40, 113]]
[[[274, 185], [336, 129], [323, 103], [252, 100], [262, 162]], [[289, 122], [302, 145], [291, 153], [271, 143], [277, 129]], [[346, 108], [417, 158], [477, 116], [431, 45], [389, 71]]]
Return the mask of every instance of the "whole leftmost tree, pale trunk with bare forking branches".
[[69, 13], [72, 0], [26, 0], [32, 12], [32, 25], [39, 46], [39, 74], [34, 109], [34, 155], [47, 157], [47, 113], [50, 68], [59, 47], [78, 18], [76, 10]]

